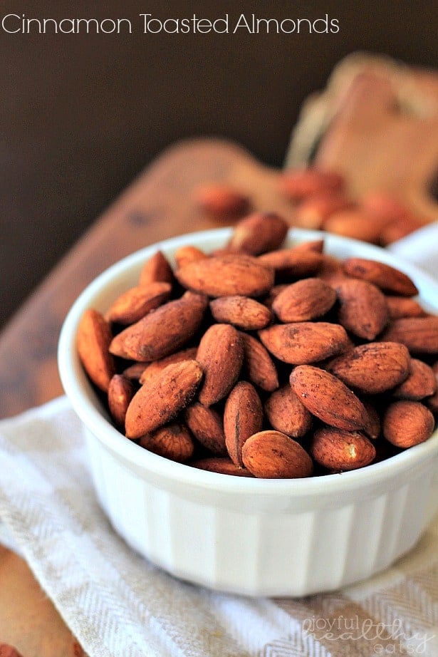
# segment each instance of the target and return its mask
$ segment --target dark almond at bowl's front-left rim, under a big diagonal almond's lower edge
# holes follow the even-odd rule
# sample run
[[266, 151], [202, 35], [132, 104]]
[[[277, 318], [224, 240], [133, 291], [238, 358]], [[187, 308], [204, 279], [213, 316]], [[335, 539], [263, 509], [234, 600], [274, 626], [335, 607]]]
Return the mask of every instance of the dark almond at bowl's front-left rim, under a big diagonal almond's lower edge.
[[187, 427], [180, 423], [170, 423], [143, 435], [139, 445], [149, 452], [184, 463], [192, 457], [194, 442]]

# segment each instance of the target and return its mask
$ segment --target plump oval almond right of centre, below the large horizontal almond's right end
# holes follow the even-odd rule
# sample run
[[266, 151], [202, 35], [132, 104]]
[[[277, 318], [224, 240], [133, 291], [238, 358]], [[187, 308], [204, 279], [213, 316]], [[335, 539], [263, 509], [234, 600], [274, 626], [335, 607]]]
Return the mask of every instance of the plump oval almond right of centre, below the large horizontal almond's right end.
[[308, 321], [325, 315], [335, 301], [336, 292], [330, 285], [309, 278], [288, 285], [273, 300], [272, 309], [280, 321]]

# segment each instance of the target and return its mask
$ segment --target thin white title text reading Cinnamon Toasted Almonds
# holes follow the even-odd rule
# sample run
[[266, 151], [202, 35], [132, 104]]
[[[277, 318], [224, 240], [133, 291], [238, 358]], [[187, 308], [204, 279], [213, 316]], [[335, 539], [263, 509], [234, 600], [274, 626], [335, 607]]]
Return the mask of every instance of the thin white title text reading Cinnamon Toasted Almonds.
[[72, 18], [55, 19], [49, 16], [5, 14], [1, 16], [1, 32], [5, 34], [131, 34], [141, 32], [154, 35], [167, 34], [336, 34], [339, 21], [329, 14], [302, 17], [284, 16], [273, 18], [240, 14], [224, 14], [215, 18], [198, 16], [167, 17], [138, 14], [128, 18]]

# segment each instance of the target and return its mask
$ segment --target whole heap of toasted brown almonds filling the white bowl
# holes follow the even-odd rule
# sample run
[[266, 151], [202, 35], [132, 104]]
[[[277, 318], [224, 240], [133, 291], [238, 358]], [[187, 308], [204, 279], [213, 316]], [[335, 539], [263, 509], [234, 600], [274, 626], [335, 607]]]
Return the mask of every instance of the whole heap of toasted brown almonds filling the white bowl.
[[438, 413], [438, 316], [382, 262], [281, 248], [254, 213], [212, 254], [157, 251], [78, 353], [115, 425], [142, 448], [231, 475], [353, 470], [422, 443]]

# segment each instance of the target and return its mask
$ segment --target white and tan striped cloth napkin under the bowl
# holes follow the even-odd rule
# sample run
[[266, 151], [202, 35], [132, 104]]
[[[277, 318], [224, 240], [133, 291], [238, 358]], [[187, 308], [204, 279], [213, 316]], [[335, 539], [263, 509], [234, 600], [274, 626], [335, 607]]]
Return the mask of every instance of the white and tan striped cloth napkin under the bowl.
[[[438, 277], [438, 224], [391, 250], [416, 264], [427, 253]], [[249, 599], [192, 586], [110, 527], [64, 397], [0, 422], [0, 519], [90, 657], [438, 654], [438, 519], [407, 557], [342, 591]]]

